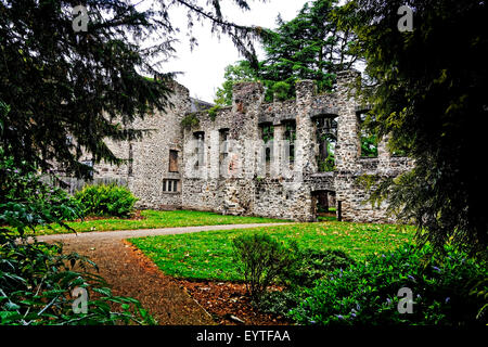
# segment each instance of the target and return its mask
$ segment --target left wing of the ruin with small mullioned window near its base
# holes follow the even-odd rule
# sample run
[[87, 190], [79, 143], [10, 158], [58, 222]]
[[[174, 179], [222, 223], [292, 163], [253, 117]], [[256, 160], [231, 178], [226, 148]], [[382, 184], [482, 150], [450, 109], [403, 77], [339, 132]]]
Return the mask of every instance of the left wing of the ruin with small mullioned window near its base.
[[[95, 178], [124, 179], [132, 193], [139, 197], [138, 208], [175, 209], [181, 207], [181, 174], [183, 168], [183, 131], [181, 120], [190, 112], [191, 101], [187, 88], [174, 82], [170, 97], [172, 107], [166, 113], [153, 112], [144, 119], [130, 125], [133, 129], [150, 129], [140, 141], [113, 142], [110, 149], [120, 158], [129, 160], [120, 166], [105, 163], [94, 165]], [[178, 153], [178, 170], [169, 170], [169, 151]], [[86, 158], [90, 160], [89, 157]], [[164, 189], [164, 182], [176, 181], [176, 191]]]

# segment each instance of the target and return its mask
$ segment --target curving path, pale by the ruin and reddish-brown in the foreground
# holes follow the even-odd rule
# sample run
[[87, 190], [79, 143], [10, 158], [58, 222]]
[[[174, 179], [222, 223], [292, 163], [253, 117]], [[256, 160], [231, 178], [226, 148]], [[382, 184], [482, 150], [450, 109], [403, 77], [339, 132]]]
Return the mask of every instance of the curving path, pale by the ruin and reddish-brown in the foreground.
[[37, 236], [42, 242], [62, 242], [65, 252], [88, 256], [100, 268], [114, 295], [130, 296], [141, 301], [162, 325], [209, 325], [211, 317], [170, 277], [159, 269], [126, 239], [181, 234], [209, 230], [248, 229], [288, 223], [228, 224], [87, 232]]

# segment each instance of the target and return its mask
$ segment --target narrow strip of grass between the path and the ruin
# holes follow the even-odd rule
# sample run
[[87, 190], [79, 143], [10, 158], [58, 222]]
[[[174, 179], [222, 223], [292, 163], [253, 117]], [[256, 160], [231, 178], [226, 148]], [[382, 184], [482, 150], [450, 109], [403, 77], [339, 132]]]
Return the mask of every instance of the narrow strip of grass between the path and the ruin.
[[[77, 232], [90, 231], [112, 231], [112, 230], [138, 230], [156, 228], [176, 228], [176, 227], [196, 227], [196, 226], [220, 226], [220, 224], [249, 224], [249, 223], [271, 223], [283, 222], [284, 220], [261, 218], [261, 217], [241, 217], [222, 216], [214, 213], [192, 211], [192, 210], [143, 210], [142, 216], [145, 219], [130, 220], [107, 218], [100, 220], [87, 220], [81, 222], [68, 222], [67, 224]], [[72, 231], [61, 228], [57, 224], [36, 228], [37, 235], [70, 233]]]

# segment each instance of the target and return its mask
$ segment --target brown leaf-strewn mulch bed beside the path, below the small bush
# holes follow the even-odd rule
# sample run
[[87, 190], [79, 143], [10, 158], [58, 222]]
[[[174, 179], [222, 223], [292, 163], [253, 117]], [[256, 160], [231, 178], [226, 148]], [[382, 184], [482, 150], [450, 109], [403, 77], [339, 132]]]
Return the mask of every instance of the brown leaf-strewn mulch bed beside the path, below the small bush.
[[[264, 313], [255, 308], [248, 296], [245, 295], [245, 284], [179, 279], [175, 279], [175, 282], [184, 288], [220, 325], [293, 324], [283, 317]], [[271, 290], [280, 288], [272, 287]]]

